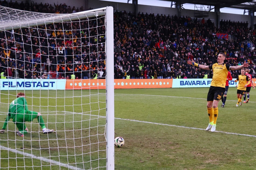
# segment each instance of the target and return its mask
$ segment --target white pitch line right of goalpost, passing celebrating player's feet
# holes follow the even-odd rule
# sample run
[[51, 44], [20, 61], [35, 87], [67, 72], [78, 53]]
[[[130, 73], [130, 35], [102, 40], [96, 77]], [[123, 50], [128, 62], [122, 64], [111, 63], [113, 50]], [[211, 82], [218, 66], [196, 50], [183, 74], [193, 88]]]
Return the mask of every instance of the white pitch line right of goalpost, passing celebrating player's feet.
[[[163, 124], [163, 123], [154, 123], [154, 122], [140, 121], [140, 120], [131, 120], [131, 119], [121, 119], [121, 118], [115, 118], [115, 119], [119, 119], [119, 120], [128, 120], [128, 121], [141, 122], [141, 123], [149, 123], [149, 124], [156, 124], [156, 125], [164, 125], [164, 126], [173, 126], [173, 127], [187, 128], [187, 129], [197, 129], [197, 130], [204, 130], [204, 131], [205, 131], [205, 129], [202, 129], [202, 128], [194, 128], [194, 127], [170, 125], [170, 124]], [[254, 137], [254, 138], [256, 138], [256, 135], [238, 134], [238, 133], [223, 132], [223, 131], [215, 131], [215, 132], [224, 133], [224, 134], [231, 134], [231, 135], [248, 136], [248, 137]]]

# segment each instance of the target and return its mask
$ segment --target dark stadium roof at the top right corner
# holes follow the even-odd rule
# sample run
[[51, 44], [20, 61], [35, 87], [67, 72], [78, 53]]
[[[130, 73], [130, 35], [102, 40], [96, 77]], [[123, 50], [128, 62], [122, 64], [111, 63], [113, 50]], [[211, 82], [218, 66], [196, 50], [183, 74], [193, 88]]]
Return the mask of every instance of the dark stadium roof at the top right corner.
[[[166, 1], [166, 0], [165, 0]], [[175, 2], [176, 5], [182, 5], [185, 3], [199, 4], [199, 5], [209, 5], [215, 6], [217, 8], [237, 8], [237, 9], [248, 9], [256, 12], [256, 1], [248, 0], [167, 0]]]

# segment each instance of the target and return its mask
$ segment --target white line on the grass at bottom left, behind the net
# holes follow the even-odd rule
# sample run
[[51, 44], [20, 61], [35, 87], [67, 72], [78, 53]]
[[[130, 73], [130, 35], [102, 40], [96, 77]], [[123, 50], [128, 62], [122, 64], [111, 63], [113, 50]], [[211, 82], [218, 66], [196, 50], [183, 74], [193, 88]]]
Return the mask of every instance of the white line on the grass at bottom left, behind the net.
[[4, 147], [4, 146], [0, 146], [0, 149], [8, 150], [8, 151], [11, 151], [11, 152], [16, 153], [16, 154], [21, 154], [24, 157], [30, 157], [30, 158], [38, 159], [38, 160], [41, 160], [41, 161], [44, 161], [44, 162], [48, 162], [48, 163], [50, 163], [50, 165], [59, 165], [61, 167], [65, 167], [65, 168], [68, 168], [68, 169], [83, 170], [81, 168], [77, 168], [77, 167], [71, 166], [69, 164], [63, 164], [63, 163], [58, 162], [58, 161], [54, 161], [54, 160], [50, 160], [50, 159], [47, 159], [47, 158], [38, 157], [38, 156], [35, 156], [33, 154], [26, 153], [24, 151], [19, 151], [19, 150], [16, 150], [16, 149], [10, 149], [10, 148]]

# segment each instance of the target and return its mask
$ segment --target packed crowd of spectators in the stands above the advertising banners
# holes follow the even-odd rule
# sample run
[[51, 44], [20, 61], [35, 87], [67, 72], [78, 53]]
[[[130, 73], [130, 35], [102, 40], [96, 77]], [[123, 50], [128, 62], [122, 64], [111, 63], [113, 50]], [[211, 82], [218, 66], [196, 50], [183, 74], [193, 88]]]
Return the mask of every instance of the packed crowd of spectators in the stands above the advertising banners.
[[[85, 10], [65, 3], [52, 6], [33, 1], [17, 5], [17, 1], [4, 0], [0, 5], [43, 13]], [[97, 29], [96, 24], [100, 25]], [[105, 77], [104, 19], [97, 23], [84, 20], [44, 27], [0, 31], [1, 78], [6, 75], [36, 79], [44, 78], [45, 73], [48, 77], [55, 73], [62, 79], [72, 75], [76, 79]], [[216, 33], [232, 38], [218, 39]], [[250, 74], [255, 78], [255, 44], [255, 30], [248, 27], [248, 22], [221, 20], [217, 28], [204, 18], [114, 12], [115, 79], [211, 78], [212, 71], [194, 68], [186, 61], [210, 65], [216, 62], [219, 52], [227, 55], [226, 63], [230, 65], [249, 62]], [[240, 71], [233, 71], [232, 77], [239, 74]]]

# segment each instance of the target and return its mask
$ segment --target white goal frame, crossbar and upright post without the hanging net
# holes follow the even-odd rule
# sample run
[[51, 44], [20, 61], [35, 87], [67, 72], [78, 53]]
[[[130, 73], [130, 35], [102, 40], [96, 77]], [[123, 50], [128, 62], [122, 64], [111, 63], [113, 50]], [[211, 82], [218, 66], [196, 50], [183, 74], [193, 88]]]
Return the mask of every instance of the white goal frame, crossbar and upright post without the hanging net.
[[[42, 24], [50, 24], [53, 22], [65, 22], [70, 20], [80, 19], [78, 16], [72, 14], [43, 14], [33, 13], [21, 10], [15, 10], [11, 8], [4, 8], [0, 11], [0, 30], [10, 31], [18, 28], [33, 27]], [[16, 14], [20, 17], [13, 20], [3, 19], [7, 13]], [[114, 17], [113, 7], [108, 6], [105, 8], [93, 9], [84, 12], [78, 12], [78, 14], [84, 14], [81, 18], [100, 16], [105, 14], [105, 26], [106, 26], [106, 168], [108, 170], [114, 170]], [[33, 15], [35, 14], [35, 15]], [[37, 18], [36, 14], [42, 14], [41, 18]], [[29, 15], [29, 16], [27, 16]], [[67, 18], [66, 20], [63, 18]], [[19, 20], [18, 20], [19, 19]], [[48, 19], [48, 21], [47, 21]], [[10, 22], [7, 22], [10, 21]]]

